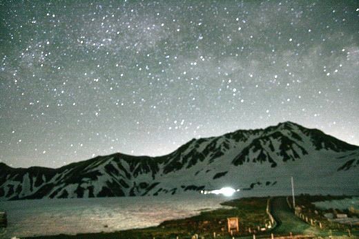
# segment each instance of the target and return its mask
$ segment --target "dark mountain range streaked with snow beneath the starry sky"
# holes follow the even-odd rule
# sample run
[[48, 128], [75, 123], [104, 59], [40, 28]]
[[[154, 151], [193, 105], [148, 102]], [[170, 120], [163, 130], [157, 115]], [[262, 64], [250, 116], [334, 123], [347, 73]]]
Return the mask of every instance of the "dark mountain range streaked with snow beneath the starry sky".
[[193, 139], [161, 157], [122, 153], [59, 169], [0, 163], [0, 200], [175, 194], [231, 186], [268, 195], [359, 192], [359, 146], [293, 122]]

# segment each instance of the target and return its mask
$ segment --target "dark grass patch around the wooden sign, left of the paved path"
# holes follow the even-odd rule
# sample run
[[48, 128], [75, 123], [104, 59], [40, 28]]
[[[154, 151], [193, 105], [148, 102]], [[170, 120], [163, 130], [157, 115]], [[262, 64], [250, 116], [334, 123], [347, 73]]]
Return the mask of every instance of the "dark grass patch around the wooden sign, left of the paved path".
[[235, 236], [249, 235], [251, 231], [257, 230], [258, 226], [264, 227], [269, 222], [266, 214], [266, 202], [268, 198], [240, 198], [222, 203], [228, 208], [216, 209], [213, 211], [202, 211], [200, 215], [191, 218], [178, 220], [168, 220], [162, 222], [157, 227], [144, 229], [130, 229], [126, 231], [116, 231], [113, 233], [84, 233], [76, 236], [40, 236], [43, 239], [72, 239], [72, 238], [191, 238], [197, 233], [200, 238], [212, 238], [213, 232], [217, 238], [229, 238], [227, 231], [227, 218], [238, 217], [240, 231], [235, 232]]

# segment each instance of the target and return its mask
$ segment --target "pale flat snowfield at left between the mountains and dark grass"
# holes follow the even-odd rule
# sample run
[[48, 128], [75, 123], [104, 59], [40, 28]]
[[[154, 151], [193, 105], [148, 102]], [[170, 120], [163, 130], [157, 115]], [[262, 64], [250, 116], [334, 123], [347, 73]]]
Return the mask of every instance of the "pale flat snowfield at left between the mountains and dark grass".
[[[238, 195], [233, 195], [235, 198]], [[156, 226], [164, 220], [195, 216], [222, 207], [222, 195], [41, 199], [1, 202], [8, 227], [0, 238], [119, 231]]]

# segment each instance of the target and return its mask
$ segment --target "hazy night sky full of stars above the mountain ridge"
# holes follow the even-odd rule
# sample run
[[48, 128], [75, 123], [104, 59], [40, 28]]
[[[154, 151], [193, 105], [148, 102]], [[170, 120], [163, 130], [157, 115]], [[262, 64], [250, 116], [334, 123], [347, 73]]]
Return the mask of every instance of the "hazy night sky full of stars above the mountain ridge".
[[358, 1], [0, 1], [0, 161], [290, 120], [359, 145]]

